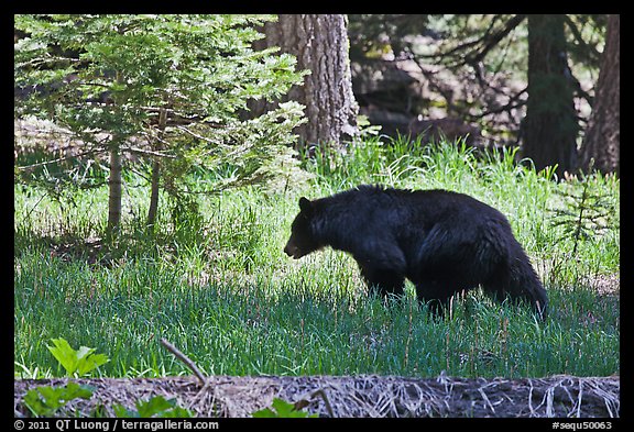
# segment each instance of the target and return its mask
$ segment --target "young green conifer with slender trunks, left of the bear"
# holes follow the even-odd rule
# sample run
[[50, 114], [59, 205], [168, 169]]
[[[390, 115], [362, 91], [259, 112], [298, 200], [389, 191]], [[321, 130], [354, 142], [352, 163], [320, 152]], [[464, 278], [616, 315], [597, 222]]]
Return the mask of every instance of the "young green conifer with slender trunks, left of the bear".
[[[53, 121], [90, 157], [109, 154], [108, 233], [121, 221], [127, 153], [152, 166], [147, 224], [158, 188], [184, 197], [195, 167], [222, 173], [221, 190], [294, 165], [288, 102], [242, 120], [250, 99], [275, 99], [302, 81], [295, 58], [254, 51], [263, 15], [15, 15], [15, 118]], [[227, 174], [229, 173], [229, 175]]]

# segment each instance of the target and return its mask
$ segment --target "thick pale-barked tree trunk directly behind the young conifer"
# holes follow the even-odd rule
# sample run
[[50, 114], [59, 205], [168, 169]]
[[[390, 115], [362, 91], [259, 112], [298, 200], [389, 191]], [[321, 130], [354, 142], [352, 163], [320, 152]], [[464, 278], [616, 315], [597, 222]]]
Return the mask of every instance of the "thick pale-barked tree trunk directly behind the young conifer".
[[[303, 86], [294, 86], [285, 100], [306, 107], [308, 122], [298, 126], [299, 145], [340, 145], [357, 134], [359, 107], [352, 93], [348, 56], [347, 18], [341, 14], [281, 14], [264, 24], [265, 46], [278, 46], [308, 69]], [[270, 107], [253, 106], [261, 114]]]

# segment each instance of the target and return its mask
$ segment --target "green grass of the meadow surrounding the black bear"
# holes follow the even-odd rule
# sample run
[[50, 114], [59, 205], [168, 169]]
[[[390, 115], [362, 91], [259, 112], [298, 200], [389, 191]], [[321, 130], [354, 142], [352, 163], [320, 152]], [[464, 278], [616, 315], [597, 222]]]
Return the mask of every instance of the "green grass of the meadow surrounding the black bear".
[[[63, 376], [46, 348], [53, 337], [110, 357], [101, 376], [190, 374], [163, 350], [165, 337], [207, 374], [603, 376], [620, 370], [619, 292], [592, 281], [619, 275], [617, 225], [583, 239], [558, 240], [548, 209], [560, 186], [548, 173], [513, 163], [513, 153], [478, 157], [397, 141], [321, 155], [305, 163], [313, 179], [282, 191], [256, 188], [200, 196], [203, 218], [176, 229], [166, 212], [155, 236], [142, 226], [147, 189], [133, 175], [124, 189], [124, 230], [116, 245], [90, 248], [101, 235], [107, 188], [77, 191], [62, 208], [42, 192], [15, 187], [15, 376]], [[619, 180], [593, 177], [613, 197]], [[368, 298], [356, 263], [326, 250], [300, 261], [283, 252], [300, 196], [316, 198], [362, 184], [447, 188], [504, 212], [543, 277], [550, 298], [542, 323], [522, 308], [480, 292], [433, 320], [413, 297], [387, 307]], [[163, 197], [164, 198], [164, 197]], [[163, 201], [165, 202], [165, 201]], [[95, 259], [96, 257], [96, 259]]]

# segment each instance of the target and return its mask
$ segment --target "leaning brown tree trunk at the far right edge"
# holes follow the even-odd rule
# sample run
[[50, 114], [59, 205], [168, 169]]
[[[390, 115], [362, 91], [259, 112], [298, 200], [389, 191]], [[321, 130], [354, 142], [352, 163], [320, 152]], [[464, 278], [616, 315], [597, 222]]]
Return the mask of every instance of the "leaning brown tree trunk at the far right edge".
[[621, 147], [621, 15], [610, 15], [605, 48], [597, 82], [592, 114], [583, 144], [581, 168], [588, 169], [590, 160], [602, 173], [620, 170]]

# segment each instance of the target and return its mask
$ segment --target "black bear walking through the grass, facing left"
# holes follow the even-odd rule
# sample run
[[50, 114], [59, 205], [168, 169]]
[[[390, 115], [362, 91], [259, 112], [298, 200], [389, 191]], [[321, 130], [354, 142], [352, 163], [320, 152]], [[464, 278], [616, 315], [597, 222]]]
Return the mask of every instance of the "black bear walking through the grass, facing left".
[[364, 185], [302, 197], [299, 209], [284, 252], [295, 259], [325, 246], [348, 252], [371, 292], [401, 295], [408, 278], [418, 300], [441, 313], [452, 295], [481, 286], [546, 315], [546, 290], [509, 221], [468, 195]]

